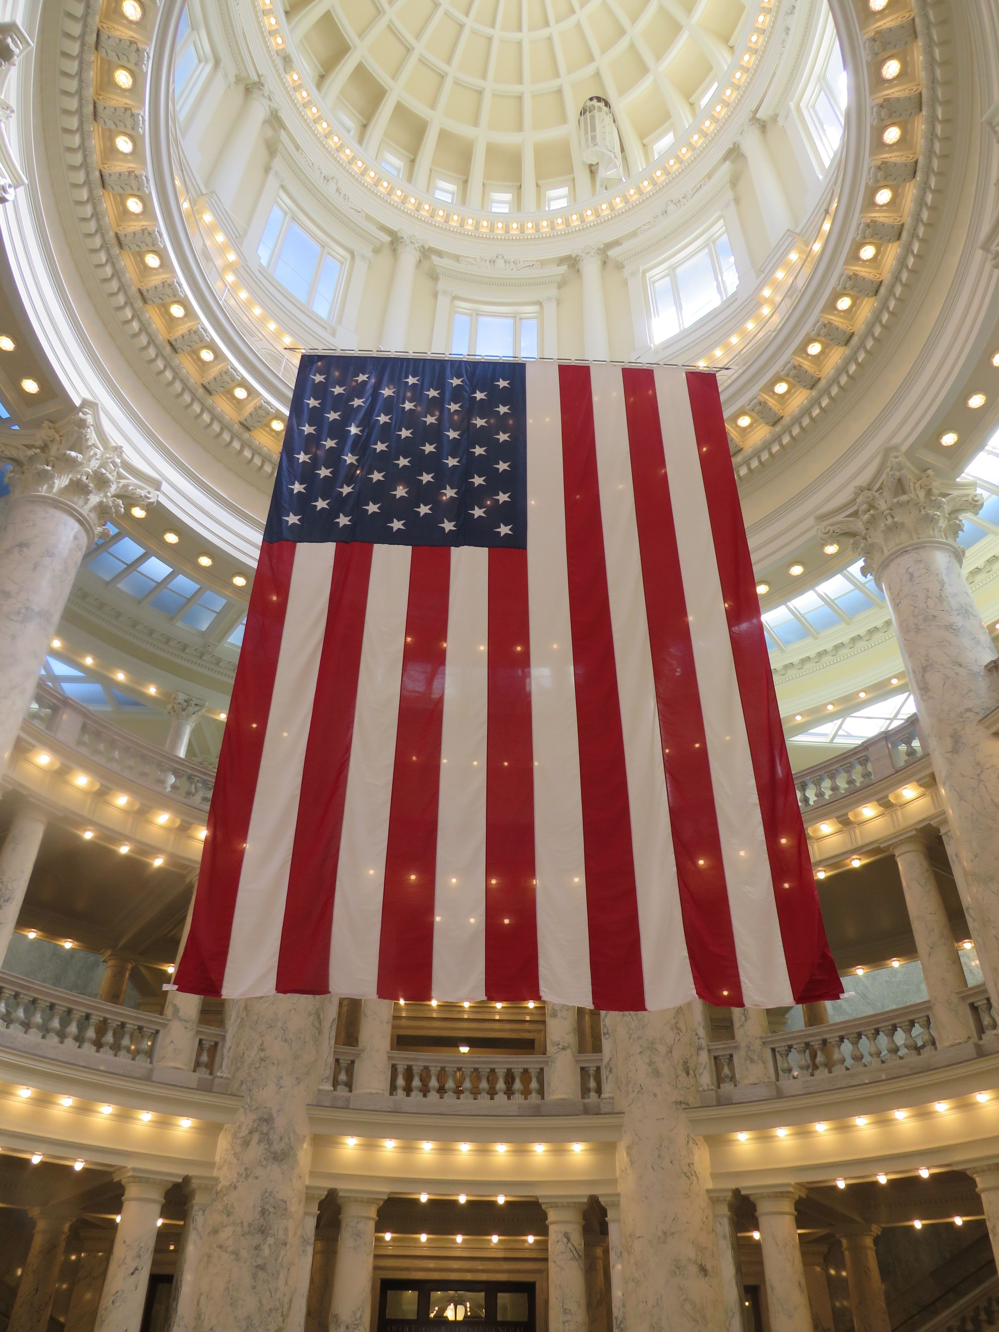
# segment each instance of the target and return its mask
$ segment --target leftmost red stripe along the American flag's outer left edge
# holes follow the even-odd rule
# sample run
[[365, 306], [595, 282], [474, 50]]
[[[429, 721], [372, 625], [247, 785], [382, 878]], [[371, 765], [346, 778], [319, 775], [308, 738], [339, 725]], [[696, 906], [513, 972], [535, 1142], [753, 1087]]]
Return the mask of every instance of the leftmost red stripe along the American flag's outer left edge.
[[274, 691], [296, 543], [265, 542], [253, 579], [240, 665], [218, 754], [208, 835], [190, 931], [177, 967], [178, 990], [221, 995], [260, 759]]

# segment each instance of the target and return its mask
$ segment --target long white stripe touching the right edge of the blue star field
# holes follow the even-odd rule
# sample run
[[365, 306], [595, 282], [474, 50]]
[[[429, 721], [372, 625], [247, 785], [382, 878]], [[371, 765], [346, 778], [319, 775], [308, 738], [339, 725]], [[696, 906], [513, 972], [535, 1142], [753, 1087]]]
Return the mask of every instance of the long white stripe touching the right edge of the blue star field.
[[527, 374], [527, 601], [534, 741], [538, 979], [555, 1003], [593, 1007], [562, 488], [558, 366]]

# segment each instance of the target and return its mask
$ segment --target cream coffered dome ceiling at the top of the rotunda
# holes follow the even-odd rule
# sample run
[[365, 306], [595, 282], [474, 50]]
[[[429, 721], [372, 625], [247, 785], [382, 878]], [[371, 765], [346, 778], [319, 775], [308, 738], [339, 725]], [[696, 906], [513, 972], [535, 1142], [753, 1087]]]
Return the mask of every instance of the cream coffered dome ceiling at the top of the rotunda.
[[[288, 32], [302, 73], [368, 152], [396, 151], [426, 189], [458, 202], [545, 206], [545, 186], [591, 194], [575, 123], [606, 99], [625, 174], [703, 116], [757, 27], [742, 0], [302, 0]], [[766, 15], [753, 45], [762, 40]], [[274, 28], [278, 27], [273, 16]], [[753, 49], [753, 48], [750, 48]], [[721, 93], [719, 93], [721, 96]], [[729, 93], [731, 97], [731, 91]], [[711, 115], [711, 108], [707, 108]]]

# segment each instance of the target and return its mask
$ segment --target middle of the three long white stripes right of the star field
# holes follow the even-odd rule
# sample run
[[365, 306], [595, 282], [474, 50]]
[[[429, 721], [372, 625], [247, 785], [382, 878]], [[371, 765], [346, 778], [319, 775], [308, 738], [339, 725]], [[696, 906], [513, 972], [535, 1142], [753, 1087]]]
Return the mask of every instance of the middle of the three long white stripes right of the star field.
[[625, 390], [622, 373], [617, 366], [594, 365], [590, 381], [603, 553], [631, 811], [645, 1003], [647, 1008], [670, 1008], [694, 998], [694, 978], [683, 934], [670, 831]]

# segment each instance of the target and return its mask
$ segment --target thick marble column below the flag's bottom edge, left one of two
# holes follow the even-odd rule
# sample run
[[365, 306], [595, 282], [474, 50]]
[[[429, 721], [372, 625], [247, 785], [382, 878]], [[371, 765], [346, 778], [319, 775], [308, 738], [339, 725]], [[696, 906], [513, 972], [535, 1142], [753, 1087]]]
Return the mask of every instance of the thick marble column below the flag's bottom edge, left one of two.
[[309, 1104], [322, 1067], [322, 1015], [317, 995], [240, 1003], [230, 1090], [241, 1102], [218, 1135], [218, 1183], [194, 1277], [193, 1332], [250, 1332], [288, 1321], [312, 1163]]

